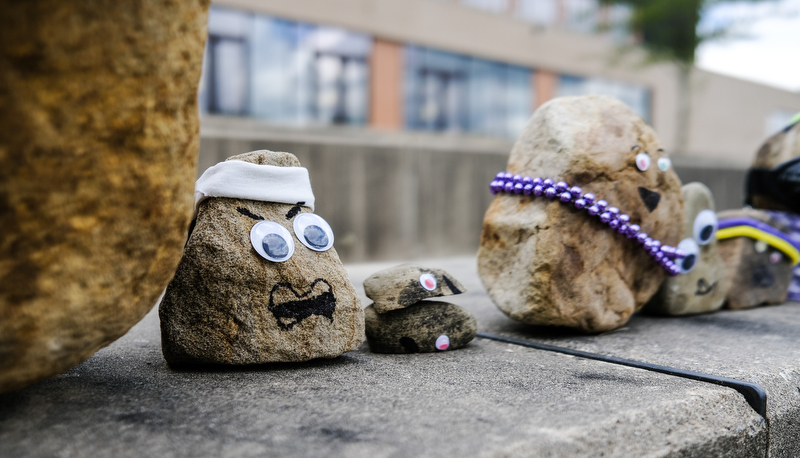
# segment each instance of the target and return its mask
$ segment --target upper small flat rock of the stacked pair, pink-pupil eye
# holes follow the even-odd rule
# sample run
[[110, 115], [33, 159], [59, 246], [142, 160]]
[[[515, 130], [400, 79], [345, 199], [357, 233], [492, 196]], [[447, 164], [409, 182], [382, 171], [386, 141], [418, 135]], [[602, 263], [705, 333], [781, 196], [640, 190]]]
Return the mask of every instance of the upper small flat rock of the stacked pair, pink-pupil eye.
[[467, 289], [442, 269], [404, 264], [376, 272], [364, 280], [364, 291], [375, 311], [385, 313], [422, 299], [461, 294]]

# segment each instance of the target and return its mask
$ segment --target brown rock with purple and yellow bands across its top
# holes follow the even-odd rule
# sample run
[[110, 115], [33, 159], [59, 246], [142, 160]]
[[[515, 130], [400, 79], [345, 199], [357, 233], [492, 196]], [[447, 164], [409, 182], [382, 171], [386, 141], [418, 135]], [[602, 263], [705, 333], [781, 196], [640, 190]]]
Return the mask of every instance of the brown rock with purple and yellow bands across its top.
[[780, 304], [786, 300], [800, 245], [769, 213], [743, 208], [720, 212], [719, 253], [726, 269], [731, 309]]

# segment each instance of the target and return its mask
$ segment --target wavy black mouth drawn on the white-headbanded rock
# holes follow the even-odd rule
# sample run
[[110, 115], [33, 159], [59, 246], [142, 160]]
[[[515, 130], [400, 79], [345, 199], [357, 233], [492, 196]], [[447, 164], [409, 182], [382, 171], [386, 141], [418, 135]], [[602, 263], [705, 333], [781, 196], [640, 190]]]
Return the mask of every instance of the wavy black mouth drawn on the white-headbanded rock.
[[321, 278], [314, 280], [303, 293], [299, 293], [290, 283], [277, 283], [269, 293], [268, 310], [284, 331], [312, 315], [324, 316], [333, 323], [336, 296], [331, 284]]

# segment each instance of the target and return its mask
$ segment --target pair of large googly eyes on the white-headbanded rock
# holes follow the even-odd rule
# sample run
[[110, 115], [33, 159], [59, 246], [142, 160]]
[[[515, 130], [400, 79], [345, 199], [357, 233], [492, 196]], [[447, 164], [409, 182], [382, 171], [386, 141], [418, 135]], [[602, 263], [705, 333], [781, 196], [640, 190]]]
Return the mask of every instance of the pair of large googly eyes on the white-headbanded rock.
[[[300, 243], [314, 251], [327, 251], [333, 246], [333, 230], [320, 216], [301, 213], [294, 219], [294, 234]], [[260, 221], [250, 229], [250, 243], [264, 259], [283, 262], [294, 254], [294, 238], [282, 225]]]

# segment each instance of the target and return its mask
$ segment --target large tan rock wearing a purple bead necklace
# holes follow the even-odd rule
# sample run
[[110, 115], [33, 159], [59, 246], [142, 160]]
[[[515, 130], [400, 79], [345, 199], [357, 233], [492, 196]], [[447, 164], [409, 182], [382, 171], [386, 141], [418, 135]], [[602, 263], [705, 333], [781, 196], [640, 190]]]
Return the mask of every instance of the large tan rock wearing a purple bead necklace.
[[509, 317], [601, 332], [676, 275], [681, 183], [655, 132], [606, 96], [536, 110], [491, 183], [478, 272]]

